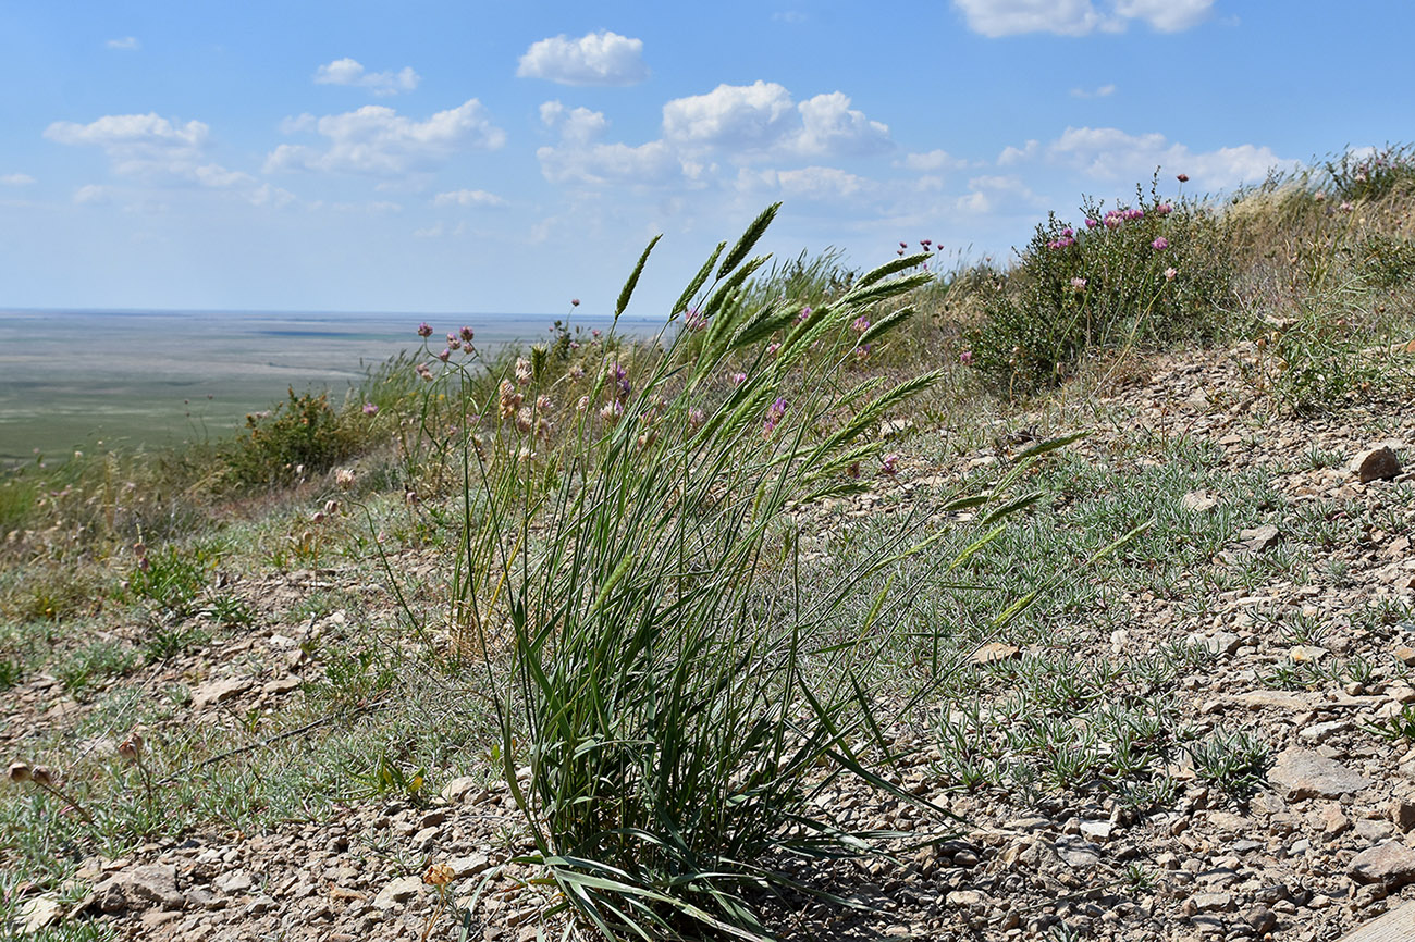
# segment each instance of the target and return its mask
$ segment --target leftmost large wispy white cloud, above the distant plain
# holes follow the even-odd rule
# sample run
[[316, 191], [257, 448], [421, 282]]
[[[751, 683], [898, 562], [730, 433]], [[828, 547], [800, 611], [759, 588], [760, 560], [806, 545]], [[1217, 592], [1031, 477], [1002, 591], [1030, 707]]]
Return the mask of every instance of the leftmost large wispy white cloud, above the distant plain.
[[231, 188], [255, 181], [207, 158], [209, 127], [157, 115], [108, 115], [88, 124], [54, 122], [44, 136], [59, 144], [99, 147], [113, 173], [156, 184]]

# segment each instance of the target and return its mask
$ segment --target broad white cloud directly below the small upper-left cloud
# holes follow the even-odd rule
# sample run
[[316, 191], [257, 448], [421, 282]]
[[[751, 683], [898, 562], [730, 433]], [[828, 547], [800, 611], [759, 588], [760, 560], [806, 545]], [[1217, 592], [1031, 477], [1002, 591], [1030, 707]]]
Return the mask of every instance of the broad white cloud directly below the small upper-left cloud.
[[282, 129], [316, 132], [328, 139], [328, 146], [280, 144], [266, 157], [266, 173], [313, 170], [403, 177], [436, 170], [454, 154], [497, 150], [507, 141], [507, 133], [491, 123], [474, 98], [423, 122], [403, 117], [392, 107], [365, 105], [342, 115], [286, 119]]

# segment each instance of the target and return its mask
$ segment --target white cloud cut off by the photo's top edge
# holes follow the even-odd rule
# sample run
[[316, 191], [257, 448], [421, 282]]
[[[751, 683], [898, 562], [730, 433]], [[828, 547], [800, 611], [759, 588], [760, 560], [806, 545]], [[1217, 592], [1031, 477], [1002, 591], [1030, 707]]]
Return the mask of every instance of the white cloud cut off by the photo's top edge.
[[1208, 17], [1214, 0], [954, 0], [974, 33], [998, 38], [1023, 33], [1087, 35], [1124, 33], [1131, 23], [1160, 33], [1189, 30]]

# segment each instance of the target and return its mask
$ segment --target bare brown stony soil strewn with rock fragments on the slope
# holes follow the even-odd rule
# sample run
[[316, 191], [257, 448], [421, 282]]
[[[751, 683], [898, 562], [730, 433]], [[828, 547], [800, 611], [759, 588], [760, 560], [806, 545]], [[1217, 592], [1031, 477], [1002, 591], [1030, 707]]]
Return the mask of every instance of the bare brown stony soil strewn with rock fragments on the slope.
[[[1126, 434], [1145, 427], [1156, 436], [1217, 444], [1225, 468], [1269, 475], [1292, 504], [1390, 509], [1409, 494], [1401, 484], [1415, 481], [1415, 468], [1402, 470], [1398, 460], [1398, 453], [1415, 450], [1411, 403], [1375, 397], [1316, 420], [1259, 419], [1259, 403], [1240, 382], [1234, 362], [1213, 354], [1163, 362], [1146, 382], [1101, 407], [1124, 416]], [[1115, 429], [1097, 423], [1087, 447], [1119, 434]], [[1295, 455], [1313, 447], [1340, 454], [1343, 463], [1293, 470]], [[962, 461], [986, 461], [990, 453]], [[900, 487], [908, 484], [910, 471], [901, 467]], [[1196, 492], [1186, 496], [1186, 506], [1206, 513], [1218, 496]], [[1177, 798], [1152, 813], [1131, 812], [1104, 796], [1029, 803], [999, 791], [945, 792], [931, 744], [918, 731], [899, 730], [901, 743], [917, 740], [921, 747], [901, 771], [901, 784], [958, 813], [962, 833], [910, 851], [900, 866], [842, 863], [811, 874], [874, 912], [809, 900], [773, 904], [768, 911], [782, 934], [1315, 942], [1339, 939], [1402, 901], [1415, 901], [1415, 750], [1408, 740], [1373, 731], [1415, 703], [1415, 676], [1404, 669], [1415, 666], [1415, 622], [1371, 628], [1351, 617], [1381, 598], [1415, 600], [1411, 508], [1394, 511], [1375, 516], [1404, 519], [1405, 529], [1367, 528], [1357, 542], [1323, 550], [1346, 567], [1340, 587], [1271, 581], [1228, 591], [1211, 600], [1203, 621], [1170, 603], [1136, 595], [1122, 631], [1068, 639], [1091, 656], [1174, 639], [1215, 652], [1211, 670], [1183, 679], [1183, 720], [1248, 728], [1269, 744], [1272, 764], [1251, 799], [1230, 801], [1183, 762], [1173, 769], [1180, 779]], [[1234, 533], [1225, 553], [1234, 559], [1271, 553], [1289, 539], [1275, 523]], [[306, 591], [317, 578], [331, 577], [297, 574], [263, 593]], [[378, 591], [368, 587], [369, 594]], [[1274, 607], [1299, 610], [1324, 631], [1310, 644], [1293, 645], [1255, 617]], [[335, 628], [328, 620], [311, 621], [311, 631]], [[190, 707], [194, 721], [297, 696], [300, 641], [256, 629], [222, 663], [185, 665], [202, 675]], [[1354, 656], [1374, 665], [1368, 682], [1298, 690], [1262, 682], [1276, 665]], [[68, 723], [82, 709], [55, 703], [44, 679], [17, 687], [7, 703], [13, 713], [7, 730]], [[41, 707], [47, 713], [38, 716]], [[906, 832], [930, 826], [913, 806], [869, 793], [842, 788], [831, 801], [846, 823]], [[504, 785], [456, 779], [430, 806], [355, 805], [328, 823], [280, 825], [260, 835], [197, 833], [180, 843], [137, 847], [120, 860], [93, 857], [81, 873], [92, 887], [81, 902], [59, 907], [37, 897], [31, 917], [38, 925], [99, 914], [119, 938], [183, 942], [422, 939], [436, 917], [430, 938], [458, 939], [464, 929], [468, 939], [529, 942], [541, 931], [558, 934], [560, 925], [541, 915], [543, 891], [518, 884], [526, 871], [494, 870], [524, 849], [516, 827]], [[427, 863], [450, 867], [444, 891], [424, 883]], [[475, 908], [454, 926], [440, 892], [466, 907], [478, 887]]]

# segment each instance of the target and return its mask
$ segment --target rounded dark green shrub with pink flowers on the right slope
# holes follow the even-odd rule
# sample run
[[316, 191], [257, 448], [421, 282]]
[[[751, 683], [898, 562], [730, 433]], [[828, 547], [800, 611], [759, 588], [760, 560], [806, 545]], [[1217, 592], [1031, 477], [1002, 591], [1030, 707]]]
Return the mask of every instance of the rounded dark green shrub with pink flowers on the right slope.
[[1223, 225], [1204, 205], [1136, 191], [1133, 205], [1087, 201], [1084, 225], [1050, 216], [993, 287], [969, 362], [995, 385], [1034, 392], [1092, 348], [1203, 338], [1230, 304]]

